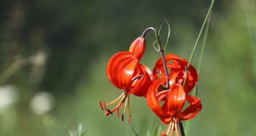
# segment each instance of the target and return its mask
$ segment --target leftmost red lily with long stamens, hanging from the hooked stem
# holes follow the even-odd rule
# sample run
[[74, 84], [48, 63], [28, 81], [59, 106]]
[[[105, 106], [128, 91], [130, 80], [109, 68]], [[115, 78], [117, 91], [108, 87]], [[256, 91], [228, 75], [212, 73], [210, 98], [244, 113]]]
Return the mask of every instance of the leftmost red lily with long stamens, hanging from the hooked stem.
[[[131, 43], [129, 51], [120, 51], [110, 58], [107, 65], [107, 75], [110, 82], [119, 89], [124, 89], [125, 91], [112, 102], [103, 102], [102, 104], [100, 101], [101, 109], [103, 110], [104, 107], [104, 109], [107, 110], [105, 115], [113, 114], [112, 112], [117, 110], [119, 116], [119, 109], [125, 105], [122, 114], [123, 120], [123, 115], [128, 102], [129, 123], [129, 94], [137, 96], [146, 95], [149, 86], [153, 82], [153, 74], [145, 65], [138, 63], [145, 52], [145, 46], [144, 38], [138, 37]], [[113, 104], [117, 101], [119, 101], [118, 104], [112, 110], [106, 108], [106, 105]]]

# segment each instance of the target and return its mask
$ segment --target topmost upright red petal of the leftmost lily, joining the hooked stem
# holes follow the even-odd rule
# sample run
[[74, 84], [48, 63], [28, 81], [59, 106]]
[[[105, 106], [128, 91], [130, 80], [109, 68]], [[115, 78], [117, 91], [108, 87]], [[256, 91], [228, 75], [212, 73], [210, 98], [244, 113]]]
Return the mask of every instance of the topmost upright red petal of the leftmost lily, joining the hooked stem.
[[129, 51], [133, 53], [133, 56], [138, 59], [138, 61], [142, 58], [145, 52], [146, 41], [142, 37], [138, 37], [134, 40], [131, 45]]

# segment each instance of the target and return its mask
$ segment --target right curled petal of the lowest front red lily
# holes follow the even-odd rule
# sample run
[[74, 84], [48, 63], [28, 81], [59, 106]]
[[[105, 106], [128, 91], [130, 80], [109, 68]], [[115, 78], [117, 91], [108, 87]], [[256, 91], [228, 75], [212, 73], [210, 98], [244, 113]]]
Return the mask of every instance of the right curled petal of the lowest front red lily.
[[201, 100], [199, 98], [186, 94], [186, 100], [190, 103], [190, 106], [178, 115], [178, 118], [181, 120], [187, 120], [195, 117], [202, 109]]

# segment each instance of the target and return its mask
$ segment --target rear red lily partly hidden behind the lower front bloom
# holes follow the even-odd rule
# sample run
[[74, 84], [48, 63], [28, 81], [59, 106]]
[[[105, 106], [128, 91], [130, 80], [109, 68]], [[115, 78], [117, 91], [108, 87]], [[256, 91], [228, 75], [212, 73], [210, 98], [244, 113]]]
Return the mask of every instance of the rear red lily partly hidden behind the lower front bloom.
[[[179, 56], [171, 53], [165, 55], [165, 60], [166, 60], [167, 69], [171, 69], [171, 72], [169, 73], [169, 77], [172, 77], [174, 73], [177, 74], [175, 80], [177, 81], [177, 83], [180, 83], [183, 85], [183, 81], [186, 76], [186, 68], [188, 66], [188, 61], [186, 59], [180, 59]], [[171, 60], [173, 60], [173, 62], [168, 63], [168, 61], [171, 61]], [[161, 72], [161, 78], [166, 77], [164, 70], [165, 69], [163, 67], [163, 61], [161, 58], [159, 58], [155, 63], [153, 74], [156, 75], [158, 72]], [[190, 65], [189, 68], [187, 69], [187, 78], [186, 78], [186, 83], [184, 85], [185, 93], [189, 93], [190, 91], [192, 91], [197, 81], [198, 81], [198, 73], [196, 69], [192, 65]], [[170, 84], [171, 82], [173, 81], [170, 80]]]

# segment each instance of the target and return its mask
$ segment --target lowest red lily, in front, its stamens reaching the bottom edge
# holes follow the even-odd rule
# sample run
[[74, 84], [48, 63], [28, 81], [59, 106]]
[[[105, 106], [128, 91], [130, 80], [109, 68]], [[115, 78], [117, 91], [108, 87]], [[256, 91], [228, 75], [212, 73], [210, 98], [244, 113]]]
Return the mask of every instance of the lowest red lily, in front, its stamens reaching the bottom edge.
[[[167, 78], [155, 80], [148, 89], [146, 101], [150, 109], [155, 112], [164, 124], [170, 124], [160, 136], [167, 136], [170, 131], [172, 131], [171, 136], [173, 136], [174, 130], [176, 135], [179, 136], [180, 132], [177, 125], [179, 121], [195, 117], [201, 110], [202, 105], [199, 98], [186, 94], [181, 84], [172, 82], [171, 89], [157, 93], [159, 86], [165, 83], [166, 80]], [[164, 101], [162, 106], [159, 104], [161, 101]], [[190, 105], [183, 110], [185, 101], [189, 102]]]

